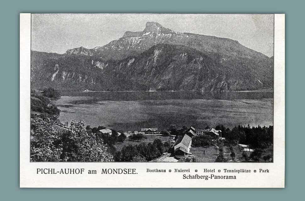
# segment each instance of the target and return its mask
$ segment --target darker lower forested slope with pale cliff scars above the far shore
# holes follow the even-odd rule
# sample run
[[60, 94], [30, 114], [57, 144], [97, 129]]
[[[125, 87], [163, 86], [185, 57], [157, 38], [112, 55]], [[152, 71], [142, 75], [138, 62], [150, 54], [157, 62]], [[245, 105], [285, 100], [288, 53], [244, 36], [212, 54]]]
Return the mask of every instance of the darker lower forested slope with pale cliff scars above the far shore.
[[[211, 57], [182, 45], [158, 44], [121, 60], [83, 55], [33, 61], [33, 85], [62, 90], [235, 91], [271, 87], [266, 78], [240, 63], [226, 66], [221, 55]], [[270, 63], [271, 64], [271, 63]]]

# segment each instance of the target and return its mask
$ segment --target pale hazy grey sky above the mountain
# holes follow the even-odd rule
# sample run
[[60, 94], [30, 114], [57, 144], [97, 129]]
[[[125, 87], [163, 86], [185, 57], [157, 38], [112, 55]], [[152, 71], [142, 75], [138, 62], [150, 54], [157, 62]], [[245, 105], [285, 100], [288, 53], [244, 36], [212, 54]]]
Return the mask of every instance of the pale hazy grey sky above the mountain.
[[273, 56], [273, 14], [32, 14], [32, 50], [65, 53], [119, 39], [125, 31], [143, 31], [155, 21], [173, 31], [237, 40]]

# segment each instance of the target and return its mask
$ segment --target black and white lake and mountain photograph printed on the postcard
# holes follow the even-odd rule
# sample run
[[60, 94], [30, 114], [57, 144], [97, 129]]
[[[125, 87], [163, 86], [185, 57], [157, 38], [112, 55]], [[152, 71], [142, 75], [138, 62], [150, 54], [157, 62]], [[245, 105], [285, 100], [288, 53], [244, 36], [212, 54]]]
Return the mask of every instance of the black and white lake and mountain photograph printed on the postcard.
[[30, 20], [30, 162], [274, 163], [274, 14]]

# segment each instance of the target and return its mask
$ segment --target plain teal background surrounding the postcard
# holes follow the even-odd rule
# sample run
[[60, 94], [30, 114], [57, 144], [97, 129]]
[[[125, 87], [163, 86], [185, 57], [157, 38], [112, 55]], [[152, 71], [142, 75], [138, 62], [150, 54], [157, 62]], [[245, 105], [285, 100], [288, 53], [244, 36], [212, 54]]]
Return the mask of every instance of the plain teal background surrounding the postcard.
[[[304, 3], [301, 1], [3, 1], [1, 3], [2, 200], [288, 200], [302, 199], [304, 157]], [[20, 189], [19, 13], [285, 13], [285, 189]], [[22, 100], [22, 97], [21, 97]], [[145, 182], [145, 181], [143, 181]], [[250, 181], [249, 181], [250, 182]]]

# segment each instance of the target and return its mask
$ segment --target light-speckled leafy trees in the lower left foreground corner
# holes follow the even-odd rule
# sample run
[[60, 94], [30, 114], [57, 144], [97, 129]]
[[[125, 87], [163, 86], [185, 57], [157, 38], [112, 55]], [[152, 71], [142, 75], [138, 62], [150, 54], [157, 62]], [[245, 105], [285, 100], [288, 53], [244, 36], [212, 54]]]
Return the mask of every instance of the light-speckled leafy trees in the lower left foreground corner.
[[69, 130], [53, 126], [53, 120], [31, 120], [31, 161], [113, 161], [103, 142], [87, 134], [83, 121], [72, 121]]

